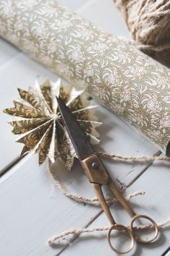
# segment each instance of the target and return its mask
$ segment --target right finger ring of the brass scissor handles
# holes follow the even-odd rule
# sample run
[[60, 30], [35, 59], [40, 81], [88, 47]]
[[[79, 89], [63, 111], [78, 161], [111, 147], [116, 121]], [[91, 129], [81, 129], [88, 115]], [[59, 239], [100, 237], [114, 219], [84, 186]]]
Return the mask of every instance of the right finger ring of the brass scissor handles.
[[[151, 221], [151, 223], [153, 224], [153, 228], [155, 229], [155, 233], [153, 234], [153, 236], [151, 236], [151, 239], [140, 239], [136, 234], [135, 234], [135, 227], [133, 226], [133, 223], [136, 221], [136, 220], [138, 220], [139, 218], [146, 218], [148, 221]], [[148, 216], [146, 216], [146, 215], [143, 215], [143, 214], [138, 214], [138, 215], [136, 215], [136, 216], [134, 216], [133, 218], [132, 218], [132, 220], [131, 220], [131, 223], [130, 223], [130, 230], [132, 231], [132, 233], [133, 233], [133, 236], [135, 237], [135, 239], [138, 241], [138, 242], [140, 242], [140, 243], [146, 243], [146, 244], [148, 244], [148, 243], [151, 243], [151, 242], [153, 242], [153, 240], [155, 240], [156, 239], [156, 237], [158, 236], [158, 225], [156, 224], [156, 222], [155, 221], [153, 221], [153, 219], [152, 218], [150, 218], [150, 217], [148, 217]]]

